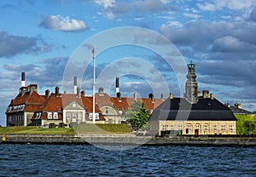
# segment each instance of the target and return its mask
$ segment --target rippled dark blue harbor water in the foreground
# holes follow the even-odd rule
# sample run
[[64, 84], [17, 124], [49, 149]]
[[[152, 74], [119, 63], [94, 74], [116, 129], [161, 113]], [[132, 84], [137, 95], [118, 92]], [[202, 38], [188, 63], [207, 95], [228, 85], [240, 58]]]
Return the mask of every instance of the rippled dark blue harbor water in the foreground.
[[256, 176], [253, 147], [0, 144], [0, 176]]

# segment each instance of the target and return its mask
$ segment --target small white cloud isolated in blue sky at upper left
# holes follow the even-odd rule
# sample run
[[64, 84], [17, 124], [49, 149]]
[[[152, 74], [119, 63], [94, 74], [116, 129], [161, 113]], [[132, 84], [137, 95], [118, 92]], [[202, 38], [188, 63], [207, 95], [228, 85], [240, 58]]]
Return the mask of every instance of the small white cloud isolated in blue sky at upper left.
[[83, 31], [87, 29], [86, 24], [82, 20], [71, 19], [68, 16], [49, 15], [45, 17], [40, 26], [44, 26], [55, 31]]

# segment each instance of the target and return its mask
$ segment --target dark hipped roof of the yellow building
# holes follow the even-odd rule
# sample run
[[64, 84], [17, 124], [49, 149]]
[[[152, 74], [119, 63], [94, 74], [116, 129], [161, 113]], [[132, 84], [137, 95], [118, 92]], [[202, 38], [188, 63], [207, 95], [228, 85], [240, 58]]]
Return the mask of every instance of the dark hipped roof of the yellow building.
[[190, 104], [183, 98], [173, 98], [154, 109], [150, 117], [153, 120], [236, 121], [236, 117], [216, 99], [199, 98], [196, 104]]

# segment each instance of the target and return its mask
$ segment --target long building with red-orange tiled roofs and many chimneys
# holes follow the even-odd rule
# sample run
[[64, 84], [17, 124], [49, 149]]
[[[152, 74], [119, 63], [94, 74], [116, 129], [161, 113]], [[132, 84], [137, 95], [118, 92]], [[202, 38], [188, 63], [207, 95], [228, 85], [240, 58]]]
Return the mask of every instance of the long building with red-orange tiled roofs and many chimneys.
[[[111, 97], [99, 88], [96, 96], [96, 123], [123, 123], [125, 109], [129, 109], [132, 103], [140, 100], [145, 103], [145, 108], [151, 113], [156, 106], [164, 101], [154, 99], [154, 94], [148, 98], [122, 97], [119, 91], [119, 77], [116, 78], [116, 96]], [[93, 98], [86, 96], [84, 91], [77, 87], [77, 77], [74, 77], [73, 93], [61, 94], [58, 87], [55, 92], [49, 90], [45, 94], [38, 94], [38, 85], [25, 85], [25, 72], [21, 73], [20, 93], [10, 104], [5, 112], [7, 126], [48, 126], [64, 123], [92, 123]]]

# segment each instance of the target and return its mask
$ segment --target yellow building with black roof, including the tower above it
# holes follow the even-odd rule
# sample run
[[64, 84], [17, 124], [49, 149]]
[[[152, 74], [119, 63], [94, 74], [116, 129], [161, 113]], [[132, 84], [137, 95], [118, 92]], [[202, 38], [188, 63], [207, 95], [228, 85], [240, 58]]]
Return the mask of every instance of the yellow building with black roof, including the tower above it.
[[188, 65], [184, 98], [170, 98], [154, 109], [149, 119], [150, 134], [236, 134], [236, 117], [220, 101], [197, 90], [195, 64]]

